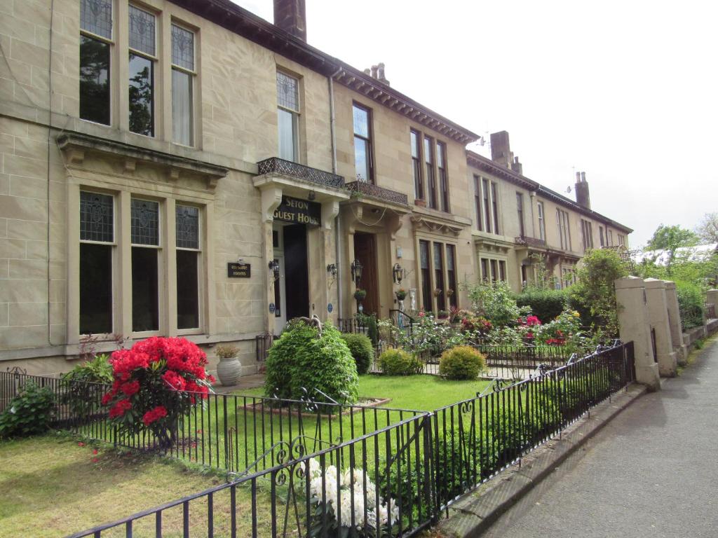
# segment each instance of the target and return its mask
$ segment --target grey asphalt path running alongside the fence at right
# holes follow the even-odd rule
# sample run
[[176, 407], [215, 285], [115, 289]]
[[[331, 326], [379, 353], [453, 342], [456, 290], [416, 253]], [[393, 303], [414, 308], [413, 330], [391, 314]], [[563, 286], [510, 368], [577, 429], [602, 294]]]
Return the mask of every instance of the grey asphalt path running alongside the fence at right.
[[717, 538], [718, 339], [640, 397], [484, 538]]

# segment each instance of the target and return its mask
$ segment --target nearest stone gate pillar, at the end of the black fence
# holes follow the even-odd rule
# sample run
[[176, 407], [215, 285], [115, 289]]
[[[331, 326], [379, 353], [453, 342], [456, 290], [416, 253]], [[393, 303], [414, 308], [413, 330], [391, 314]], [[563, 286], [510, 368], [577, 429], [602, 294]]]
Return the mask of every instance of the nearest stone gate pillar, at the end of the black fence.
[[636, 381], [645, 384], [648, 390], [659, 390], [661, 379], [658, 363], [653, 358], [643, 279], [635, 276], [619, 278], [615, 280], [615, 289], [619, 336], [624, 342], [633, 341]]

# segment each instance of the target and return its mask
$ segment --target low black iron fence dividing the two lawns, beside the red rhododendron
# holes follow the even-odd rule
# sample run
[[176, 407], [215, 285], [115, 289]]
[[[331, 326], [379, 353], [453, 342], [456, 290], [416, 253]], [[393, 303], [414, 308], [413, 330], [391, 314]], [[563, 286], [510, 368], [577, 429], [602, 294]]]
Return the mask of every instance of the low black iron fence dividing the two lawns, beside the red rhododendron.
[[27, 382], [52, 389], [55, 428], [116, 446], [163, 450], [167, 456], [232, 473], [271, 468], [290, 448], [314, 453], [422, 413], [376, 407], [386, 403], [382, 400], [363, 405], [317, 401], [321, 395], [308, 393], [302, 400], [220, 394], [202, 400], [196, 394], [195, 405], [172, 428], [174, 443], [165, 449], [149, 432], [128, 435], [113, 426], [101, 405], [108, 385], [0, 372], [0, 412]]

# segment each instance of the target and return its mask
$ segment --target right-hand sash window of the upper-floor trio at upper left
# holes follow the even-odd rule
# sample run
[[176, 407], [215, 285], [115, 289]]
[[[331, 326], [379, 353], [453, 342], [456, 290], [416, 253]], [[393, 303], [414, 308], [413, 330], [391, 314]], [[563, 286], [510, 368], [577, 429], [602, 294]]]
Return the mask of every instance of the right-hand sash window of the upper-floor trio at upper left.
[[195, 33], [172, 24], [172, 141], [194, 141]]

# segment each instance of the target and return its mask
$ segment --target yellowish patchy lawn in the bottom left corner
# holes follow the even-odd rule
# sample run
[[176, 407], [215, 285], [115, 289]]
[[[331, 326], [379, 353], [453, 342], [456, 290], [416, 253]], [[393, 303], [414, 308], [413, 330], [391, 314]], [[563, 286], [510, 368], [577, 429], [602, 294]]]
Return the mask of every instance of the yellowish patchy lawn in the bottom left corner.
[[[56, 434], [0, 441], [0, 462], [0, 538], [63, 537], [223, 483], [164, 458], [80, 446]], [[249, 499], [248, 491], [238, 489], [238, 536], [249, 534]], [[215, 496], [215, 536], [227, 535], [229, 506], [228, 493]], [[269, 501], [261, 501], [265, 527], [267, 511]], [[206, 499], [192, 501], [190, 514], [192, 536], [206, 536]], [[181, 506], [163, 514], [165, 537], [182, 536], [181, 518]], [[135, 536], [154, 536], [154, 516], [134, 530]], [[102, 535], [123, 537], [125, 531]]]

